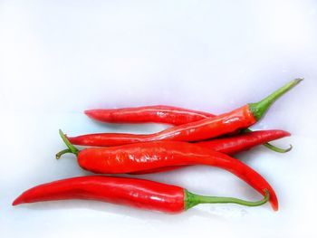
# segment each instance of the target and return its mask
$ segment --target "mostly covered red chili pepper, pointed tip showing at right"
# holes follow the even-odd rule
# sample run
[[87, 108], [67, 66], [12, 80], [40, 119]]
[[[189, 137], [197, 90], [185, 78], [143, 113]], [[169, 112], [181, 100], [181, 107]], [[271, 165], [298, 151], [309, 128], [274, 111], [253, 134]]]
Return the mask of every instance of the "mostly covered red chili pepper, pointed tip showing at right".
[[[232, 138], [217, 138], [213, 140], [201, 141], [195, 143], [195, 145], [216, 150], [226, 155], [235, 155], [236, 153], [248, 150], [257, 145], [262, 145], [264, 142], [271, 141], [277, 138], [289, 137], [291, 134], [284, 130], [271, 129], [271, 130], [259, 130], [253, 132], [247, 132], [242, 135], [238, 135]], [[292, 146], [288, 148], [291, 150]], [[142, 170], [133, 175], [152, 174], [159, 172], [166, 172], [181, 167], [187, 166], [175, 166], [175, 167], [159, 167], [150, 170]]]

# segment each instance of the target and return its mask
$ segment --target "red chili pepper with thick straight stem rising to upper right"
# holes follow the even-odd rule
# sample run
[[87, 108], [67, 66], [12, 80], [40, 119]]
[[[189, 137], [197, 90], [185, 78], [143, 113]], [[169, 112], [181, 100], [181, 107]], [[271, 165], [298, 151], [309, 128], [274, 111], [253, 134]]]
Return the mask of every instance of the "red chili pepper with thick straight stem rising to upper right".
[[246, 129], [262, 118], [265, 111], [275, 100], [286, 91], [291, 90], [302, 79], [293, 80], [279, 90], [256, 103], [249, 103], [239, 109], [216, 116], [202, 119], [174, 128], [165, 129], [149, 135], [133, 135], [120, 133], [101, 133], [69, 138], [72, 144], [82, 146], [118, 146], [131, 143], [149, 142], [157, 140], [197, 141], [207, 138], [216, 138], [234, 132], [238, 129]]

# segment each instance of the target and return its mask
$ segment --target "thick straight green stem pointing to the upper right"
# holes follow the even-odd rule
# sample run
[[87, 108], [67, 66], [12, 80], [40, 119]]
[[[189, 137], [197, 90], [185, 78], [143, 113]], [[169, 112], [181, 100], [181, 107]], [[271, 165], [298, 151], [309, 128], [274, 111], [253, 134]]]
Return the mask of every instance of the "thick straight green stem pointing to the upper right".
[[271, 105], [274, 103], [275, 100], [279, 99], [281, 96], [283, 96], [284, 93], [286, 93], [288, 90], [293, 89], [298, 83], [303, 81], [303, 79], [296, 79], [293, 81], [290, 81], [289, 83], [286, 83], [283, 87], [281, 87], [278, 90], [275, 90], [272, 94], [264, 98], [264, 100], [260, 100], [255, 103], [249, 103], [249, 109], [252, 112], [252, 114], [255, 116], [256, 120], [261, 119], [266, 110], [271, 107]]

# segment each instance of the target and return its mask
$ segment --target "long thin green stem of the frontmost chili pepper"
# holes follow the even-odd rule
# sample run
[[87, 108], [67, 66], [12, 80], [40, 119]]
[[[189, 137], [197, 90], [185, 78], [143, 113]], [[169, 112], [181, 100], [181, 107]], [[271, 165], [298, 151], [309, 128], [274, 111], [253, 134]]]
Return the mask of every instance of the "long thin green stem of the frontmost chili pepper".
[[237, 204], [247, 206], [264, 205], [270, 199], [270, 193], [264, 189], [264, 198], [259, 201], [245, 201], [235, 197], [195, 195], [185, 189], [185, 210], [200, 204]]

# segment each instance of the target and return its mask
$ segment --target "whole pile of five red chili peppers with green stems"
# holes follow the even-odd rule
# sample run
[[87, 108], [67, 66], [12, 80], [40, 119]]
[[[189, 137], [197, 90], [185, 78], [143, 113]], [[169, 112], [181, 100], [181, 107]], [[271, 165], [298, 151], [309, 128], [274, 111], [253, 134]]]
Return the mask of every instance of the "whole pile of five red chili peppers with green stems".
[[[34, 186], [18, 196], [13, 205], [63, 199], [93, 199], [179, 213], [199, 204], [233, 203], [257, 206], [270, 202], [276, 211], [278, 200], [273, 187], [253, 168], [232, 156], [258, 145], [280, 153], [291, 150], [292, 146], [282, 149], [269, 144], [274, 139], [290, 136], [290, 133], [278, 129], [251, 131], [248, 127], [261, 119], [275, 100], [302, 80], [290, 81], [264, 100], [218, 116], [170, 106], [85, 111], [88, 117], [101, 122], [156, 122], [172, 125], [153, 134], [100, 133], [67, 137], [60, 130], [60, 136], [67, 148], [57, 153], [56, 158], [72, 153], [77, 157], [80, 167], [93, 173], [138, 175], [195, 165], [219, 167], [255, 188], [263, 195], [259, 201], [196, 195], [179, 186], [131, 176], [81, 176]], [[89, 148], [79, 150], [74, 145]]]

